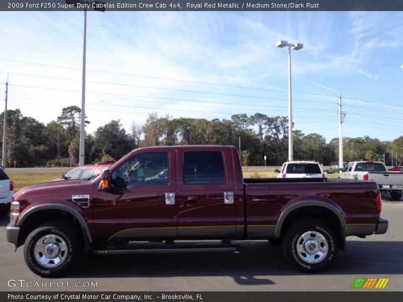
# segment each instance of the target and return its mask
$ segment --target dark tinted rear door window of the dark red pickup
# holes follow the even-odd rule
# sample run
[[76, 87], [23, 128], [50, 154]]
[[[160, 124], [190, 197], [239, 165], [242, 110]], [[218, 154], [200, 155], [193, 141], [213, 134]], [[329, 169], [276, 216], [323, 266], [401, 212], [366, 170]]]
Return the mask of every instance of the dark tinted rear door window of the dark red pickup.
[[183, 153], [185, 184], [226, 183], [223, 155], [220, 151], [188, 151]]

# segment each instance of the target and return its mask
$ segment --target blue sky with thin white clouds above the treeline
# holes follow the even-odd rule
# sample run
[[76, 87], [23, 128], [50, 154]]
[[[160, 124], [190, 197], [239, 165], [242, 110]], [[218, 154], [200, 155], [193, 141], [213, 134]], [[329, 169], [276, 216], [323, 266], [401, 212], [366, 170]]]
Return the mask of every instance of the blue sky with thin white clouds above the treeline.
[[[287, 50], [275, 43], [288, 40], [304, 43], [292, 51], [294, 129], [338, 137], [342, 94], [345, 137], [393, 140], [403, 135], [401, 20], [401, 12], [88, 12], [87, 131], [112, 119], [129, 131], [152, 112], [287, 116]], [[81, 106], [83, 22], [82, 12], [0, 12], [9, 109], [46, 124]]]

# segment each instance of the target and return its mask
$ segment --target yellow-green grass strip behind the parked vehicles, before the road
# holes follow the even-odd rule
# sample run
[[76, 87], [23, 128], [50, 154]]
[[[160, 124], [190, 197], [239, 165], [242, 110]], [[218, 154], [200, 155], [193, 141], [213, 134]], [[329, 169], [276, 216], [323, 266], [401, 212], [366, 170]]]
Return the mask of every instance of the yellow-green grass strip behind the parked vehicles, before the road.
[[[14, 191], [18, 191], [23, 187], [48, 182], [53, 179], [59, 178], [61, 173], [48, 171], [48, 172], [8, 172], [10, 179], [14, 182]], [[326, 174], [326, 177], [338, 177], [339, 173]], [[244, 178], [276, 178], [277, 173], [273, 169], [253, 169], [244, 170]]]

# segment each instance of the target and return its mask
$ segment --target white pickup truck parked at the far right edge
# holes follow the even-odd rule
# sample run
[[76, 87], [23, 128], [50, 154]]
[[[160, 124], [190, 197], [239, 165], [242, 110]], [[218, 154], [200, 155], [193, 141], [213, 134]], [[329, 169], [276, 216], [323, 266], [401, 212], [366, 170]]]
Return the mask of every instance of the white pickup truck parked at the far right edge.
[[403, 190], [403, 173], [387, 171], [382, 162], [351, 162], [341, 171], [339, 178], [374, 181], [379, 191], [388, 191], [399, 200]]

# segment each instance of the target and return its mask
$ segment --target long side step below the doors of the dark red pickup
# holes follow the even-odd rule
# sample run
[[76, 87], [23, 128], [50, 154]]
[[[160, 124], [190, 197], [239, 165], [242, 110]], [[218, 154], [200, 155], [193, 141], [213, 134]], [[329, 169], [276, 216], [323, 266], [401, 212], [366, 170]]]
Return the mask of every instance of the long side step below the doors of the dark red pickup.
[[161, 254], [161, 253], [200, 253], [200, 252], [233, 252], [240, 253], [240, 246], [226, 247], [167, 247], [150, 249], [110, 249], [95, 250], [95, 255], [121, 255], [121, 254]]

